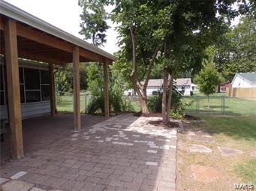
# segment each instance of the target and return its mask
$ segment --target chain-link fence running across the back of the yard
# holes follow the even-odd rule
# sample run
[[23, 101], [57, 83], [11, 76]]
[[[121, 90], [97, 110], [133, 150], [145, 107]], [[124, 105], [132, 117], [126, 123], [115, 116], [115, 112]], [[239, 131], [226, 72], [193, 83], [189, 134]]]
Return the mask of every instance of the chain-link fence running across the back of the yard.
[[[80, 109], [81, 112], [85, 111], [89, 100], [92, 95], [81, 93], [80, 94]], [[56, 106], [59, 112], [73, 112], [73, 99], [71, 93], [58, 93], [56, 95]], [[130, 100], [134, 108], [134, 112], [140, 111], [140, 103], [137, 97], [125, 97]], [[256, 97], [227, 97], [209, 96], [191, 96], [182, 97], [182, 102], [186, 103], [186, 113], [204, 113], [204, 114], [220, 114], [220, 115], [256, 115]]]

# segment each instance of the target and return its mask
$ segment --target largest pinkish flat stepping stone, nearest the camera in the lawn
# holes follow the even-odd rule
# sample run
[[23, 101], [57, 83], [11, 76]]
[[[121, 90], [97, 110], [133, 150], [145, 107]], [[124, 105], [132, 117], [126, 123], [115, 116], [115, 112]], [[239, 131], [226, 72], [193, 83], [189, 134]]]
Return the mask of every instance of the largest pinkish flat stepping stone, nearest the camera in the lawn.
[[212, 182], [222, 177], [221, 172], [211, 166], [191, 165], [191, 172], [196, 181]]

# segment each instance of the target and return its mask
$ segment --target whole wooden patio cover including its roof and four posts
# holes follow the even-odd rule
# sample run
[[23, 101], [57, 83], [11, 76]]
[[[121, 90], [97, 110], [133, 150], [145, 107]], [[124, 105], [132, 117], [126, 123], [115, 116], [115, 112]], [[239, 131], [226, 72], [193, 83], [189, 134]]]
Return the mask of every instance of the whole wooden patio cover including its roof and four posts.
[[[103, 63], [104, 115], [105, 118], [109, 118], [108, 65], [115, 60], [115, 57], [5, 1], [1, 1], [0, 8], [0, 54], [4, 55], [5, 58], [6, 105], [8, 108], [12, 158], [21, 159], [24, 157], [23, 142], [27, 142], [25, 139], [28, 139], [23, 137], [18, 58], [48, 64], [50, 73], [50, 114], [55, 118], [53, 120], [59, 119], [59, 116], [56, 116], [54, 67], [56, 65], [65, 66], [67, 63], [73, 64], [73, 130], [75, 131], [80, 131], [81, 123], [87, 122], [83, 121], [84, 118], [80, 114], [80, 64], [90, 61]], [[36, 127], [40, 128], [40, 124]]]

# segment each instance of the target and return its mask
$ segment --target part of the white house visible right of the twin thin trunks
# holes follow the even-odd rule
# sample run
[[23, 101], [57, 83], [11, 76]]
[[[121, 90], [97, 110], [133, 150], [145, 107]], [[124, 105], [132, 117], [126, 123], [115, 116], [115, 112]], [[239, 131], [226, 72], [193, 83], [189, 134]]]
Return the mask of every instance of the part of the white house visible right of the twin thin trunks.
[[183, 93], [183, 95], [190, 95], [190, 91], [195, 91], [195, 89], [197, 89], [197, 85], [192, 85], [191, 78], [174, 79], [174, 85], [178, 91]]

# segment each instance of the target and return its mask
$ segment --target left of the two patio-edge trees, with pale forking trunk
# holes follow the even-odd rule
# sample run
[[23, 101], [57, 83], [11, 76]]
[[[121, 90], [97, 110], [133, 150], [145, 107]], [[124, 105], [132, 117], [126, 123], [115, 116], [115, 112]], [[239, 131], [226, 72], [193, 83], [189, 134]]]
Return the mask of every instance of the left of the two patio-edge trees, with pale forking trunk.
[[146, 87], [161, 47], [160, 39], [153, 35], [158, 26], [155, 4], [152, 1], [124, 0], [114, 1], [113, 5], [112, 19], [120, 23], [120, 56], [126, 63], [131, 63], [131, 83], [139, 97], [141, 111], [148, 113]]

